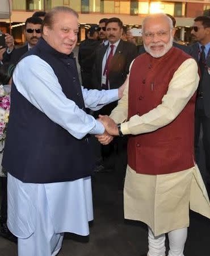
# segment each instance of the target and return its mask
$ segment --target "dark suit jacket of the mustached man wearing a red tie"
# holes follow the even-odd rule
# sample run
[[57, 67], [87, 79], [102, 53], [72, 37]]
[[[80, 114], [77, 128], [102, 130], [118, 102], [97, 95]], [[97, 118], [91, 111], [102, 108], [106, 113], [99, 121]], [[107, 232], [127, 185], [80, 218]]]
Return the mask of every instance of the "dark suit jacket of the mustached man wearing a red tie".
[[[92, 82], [95, 89], [101, 90], [102, 80], [102, 61], [104, 54], [106, 54], [108, 45], [99, 47], [96, 51], [95, 63], [92, 71]], [[129, 66], [133, 59], [137, 56], [137, 47], [135, 44], [125, 42], [120, 39], [120, 42], [116, 48], [115, 54], [112, 57], [109, 67], [109, 82], [110, 89], [117, 89], [124, 83], [129, 73]], [[104, 106], [99, 113], [110, 114], [111, 110], [117, 105], [116, 102], [112, 102]]]

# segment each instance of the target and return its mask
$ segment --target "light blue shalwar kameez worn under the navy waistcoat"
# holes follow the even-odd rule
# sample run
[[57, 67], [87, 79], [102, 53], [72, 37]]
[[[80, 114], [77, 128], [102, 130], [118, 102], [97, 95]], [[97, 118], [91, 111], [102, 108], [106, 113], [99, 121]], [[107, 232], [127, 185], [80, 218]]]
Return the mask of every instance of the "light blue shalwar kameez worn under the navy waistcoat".
[[[66, 98], [53, 69], [39, 57], [31, 55], [22, 59], [14, 71], [13, 80], [28, 101], [74, 137], [80, 139], [87, 133], [104, 132], [102, 123]], [[82, 94], [85, 106], [92, 110], [118, 100], [117, 89], [99, 92], [82, 88]], [[69, 115], [73, 119], [71, 122], [68, 122]], [[19, 256], [57, 255], [64, 232], [87, 236], [91, 220], [91, 177], [35, 184], [23, 183], [8, 174], [7, 225], [18, 237]]]

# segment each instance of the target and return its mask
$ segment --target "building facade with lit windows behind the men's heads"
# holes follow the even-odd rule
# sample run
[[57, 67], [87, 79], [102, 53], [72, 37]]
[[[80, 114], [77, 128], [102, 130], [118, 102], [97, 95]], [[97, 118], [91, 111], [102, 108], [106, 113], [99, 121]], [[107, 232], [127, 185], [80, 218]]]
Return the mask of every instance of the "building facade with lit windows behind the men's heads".
[[[48, 11], [55, 6], [67, 6], [79, 13], [81, 24], [79, 40], [85, 37], [85, 28], [90, 24], [97, 24], [102, 18], [117, 16], [123, 23], [130, 27], [141, 25], [145, 15], [149, 13], [167, 13], [173, 15], [177, 20], [177, 37], [183, 41], [190, 40], [190, 26], [196, 16], [210, 15], [210, 0], [12, 0], [12, 35], [17, 43], [24, 40], [24, 21], [33, 12], [38, 10]], [[3, 31], [8, 26], [3, 26], [0, 20], [0, 27]], [[18, 36], [21, 35], [21, 36]]]

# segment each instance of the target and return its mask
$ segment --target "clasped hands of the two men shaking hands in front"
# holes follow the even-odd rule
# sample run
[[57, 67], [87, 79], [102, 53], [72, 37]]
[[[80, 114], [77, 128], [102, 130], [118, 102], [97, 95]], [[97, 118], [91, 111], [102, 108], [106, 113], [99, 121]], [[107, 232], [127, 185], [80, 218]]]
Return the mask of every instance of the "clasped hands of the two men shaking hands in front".
[[103, 123], [105, 131], [102, 135], [95, 135], [100, 143], [103, 145], [109, 144], [114, 136], [119, 135], [117, 124], [108, 115], [99, 115], [98, 121]]

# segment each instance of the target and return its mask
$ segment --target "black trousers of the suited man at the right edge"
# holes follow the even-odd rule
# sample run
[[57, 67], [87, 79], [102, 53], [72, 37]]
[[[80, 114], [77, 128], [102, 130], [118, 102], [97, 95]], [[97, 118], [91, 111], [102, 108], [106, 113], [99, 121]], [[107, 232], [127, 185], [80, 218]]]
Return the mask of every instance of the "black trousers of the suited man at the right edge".
[[207, 183], [210, 185], [210, 117], [207, 117], [204, 110], [203, 98], [197, 98], [195, 108], [195, 156], [200, 159], [199, 140], [201, 126], [203, 128], [203, 147], [205, 152], [205, 168], [208, 174]]

